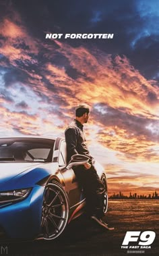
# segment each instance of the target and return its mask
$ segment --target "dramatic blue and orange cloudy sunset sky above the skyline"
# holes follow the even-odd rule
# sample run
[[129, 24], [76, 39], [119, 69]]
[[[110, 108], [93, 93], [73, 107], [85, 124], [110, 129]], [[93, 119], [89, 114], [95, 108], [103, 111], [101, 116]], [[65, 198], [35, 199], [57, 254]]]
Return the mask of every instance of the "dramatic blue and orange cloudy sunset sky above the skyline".
[[63, 137], [88, 103], [110, 194], [159, 193], [159, 1], [0, 0], [0, 16], [0, 136]]

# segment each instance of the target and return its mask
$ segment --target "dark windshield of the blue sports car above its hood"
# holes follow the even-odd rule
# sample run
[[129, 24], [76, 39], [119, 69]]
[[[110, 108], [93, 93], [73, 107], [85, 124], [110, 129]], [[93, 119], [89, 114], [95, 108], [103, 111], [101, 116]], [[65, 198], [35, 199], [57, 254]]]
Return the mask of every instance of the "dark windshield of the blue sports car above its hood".
[[0, 161], [51, 162], [54, 143], [46, 138], [0, 138]]

